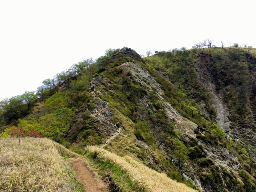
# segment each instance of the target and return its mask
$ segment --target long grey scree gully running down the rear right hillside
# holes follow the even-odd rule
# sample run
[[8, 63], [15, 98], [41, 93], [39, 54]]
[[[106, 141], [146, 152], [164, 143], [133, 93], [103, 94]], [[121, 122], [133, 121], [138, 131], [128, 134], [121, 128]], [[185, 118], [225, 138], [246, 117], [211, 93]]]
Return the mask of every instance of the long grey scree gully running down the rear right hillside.
[[246, 123], [244, 125], [236, 125], [230, 122], [229, 109], [224, 102], [224, 95], [221, 91], [216, 91], [214, 79], [211, 75], [211, 65], [212, 57], [209, 55], [202, 55], [198, 58], [194, 67], [198, 80], [210, 94], [212, 105], [217, 114], [216, 122], [226, 133], [232, 134], [238, 142], [249, 145], [252, 149], [251, 155], [256, 157], [256, 133], [253, 128], [251, 128], [251, 125]]

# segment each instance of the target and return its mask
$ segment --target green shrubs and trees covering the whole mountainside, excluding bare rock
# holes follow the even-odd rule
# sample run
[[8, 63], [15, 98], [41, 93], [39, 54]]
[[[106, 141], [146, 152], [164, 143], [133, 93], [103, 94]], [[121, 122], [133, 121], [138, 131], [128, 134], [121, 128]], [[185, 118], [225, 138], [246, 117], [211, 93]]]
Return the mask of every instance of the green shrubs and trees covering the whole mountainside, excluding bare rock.
[[[182, 49], [157, 52], [143, 60], [134, 50], [123, 48], [108, 49], [106, 55], [93, 64], [90, 60], [83, 61], [67, 72], [57, 74], [53, 80], [45, 80], [37, 94], [27, 92], [1, 102], [0, 126], [3, 132], [0, 135], [9, 137], [18, 128], [26, 133], [36, 131], [73, 151], [83, 153], [85, 146], [102, 144], [108, 134], [99, 131], [103, 126], [102, 122], [90, 115], [99, 102], [106, 100], [111, 108], [131, 119], [131, 127], [137, 140], [145, 143], [148, 150], [155, 152], [153, 163], [148, 163], [145, 151], [129, 149], [131, 154], [140, 151], [137, 158], [148, 163], [152, 169], [166, 172], [172, 179], [196, 189], [182, 174], [190, 172], [190, 165], [197, 165], [201, 182], [213, 191], [223, 185], [219, 172], [225, 175], [223, 178], [229, 183], [229, 189], [239, 186], [241, 182], [247, 188], [253, 189], [256, 184], [255, 161], [250, 157], [248, 148], [227, 139], [223, 129], [215, 123], [216, 111], [210, 95], [198, 81], [195, 71], [195, 65], [200, 58], [209, 58], [209, 73], [215, 77], [213, 83], [217, 91], [224, 93], [230, 120], [239, 126], [244, 125], [246, 120], [247, 124], [253, 126], [255, 116], [251, 112], [256, 113], [256, 58], [247, 50]], [[198, 125], [196, 139], [183, 137], [183, 133], [175, 129], [175, 121], [168, 117], [162, 100], [154, 91], [148, 89], [149, 85], [141, 84], [129, 70], [119, 67], [128, 61], [145, 67], [160, 84], [164, 91], [163, 98], [182, 116]], [[98, 98], [89, 91], [93, 76], [97, 79], [96, 90], [101, 92]], [[209, 116], [203, 113], [201, 102], [205, 103]], [[40, 104], [39, 109], [34, 104]], [[113, 122], [120, 121], [117, 116], [110, 119]], [[3, 127], [4, 125], [7, 127]], [[239, 172], [242, 181], [235, 182], [233, 173], [218, 169], [207, 158], [207, 153], [198, 141], [210, 146], [222, 146], [236, 156], [242, 165], [242, 171]], [[160, 155], [157, 150], [164, 151], [165, 156]], [[122, 174], [122, 170], [113, 163], [98, 162], [100, 163], [100, 170], [105, 172], [111, 167], [111, 170], [116, 171], [110, 173], [111, 177], [117, 179]], [[128, 184], [127, 187], [136, 187], [136, 183], [132, 181]]]

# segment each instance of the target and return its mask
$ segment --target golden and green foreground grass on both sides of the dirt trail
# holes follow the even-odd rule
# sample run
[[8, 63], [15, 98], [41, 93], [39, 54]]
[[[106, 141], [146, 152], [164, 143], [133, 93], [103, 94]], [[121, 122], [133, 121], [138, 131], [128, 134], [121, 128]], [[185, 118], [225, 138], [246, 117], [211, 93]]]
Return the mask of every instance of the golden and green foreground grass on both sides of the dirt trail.
[[[0, 151], [0, 191], [83, 191], [64, 157], [86, 157], [52, 140], [9, 137], [0, 140]], [[87, 148], [87, 157], [96, 170], [110, 174], [108, 177], [123, 191], [194, 191], [132, 157], [120, 157], [93, 146]]]

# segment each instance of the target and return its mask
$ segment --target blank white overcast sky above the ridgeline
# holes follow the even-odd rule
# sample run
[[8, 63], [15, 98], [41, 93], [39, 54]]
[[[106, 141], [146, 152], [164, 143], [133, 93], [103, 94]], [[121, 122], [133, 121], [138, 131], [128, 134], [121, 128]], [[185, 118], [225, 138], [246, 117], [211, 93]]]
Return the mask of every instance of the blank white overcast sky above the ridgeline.
[[0, 100], [108, 48], [256, 47], [254, 0], [0, 0]]

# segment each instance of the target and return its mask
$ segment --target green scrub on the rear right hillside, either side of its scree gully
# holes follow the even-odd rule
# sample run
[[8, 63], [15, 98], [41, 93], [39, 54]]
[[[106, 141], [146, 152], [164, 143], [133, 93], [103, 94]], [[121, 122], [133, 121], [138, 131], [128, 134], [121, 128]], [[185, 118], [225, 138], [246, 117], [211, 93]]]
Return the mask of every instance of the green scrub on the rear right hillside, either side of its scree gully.
[[[241, 121], [249, 115], [249, 103], [254, 106], [253, 94], [250, 89], [255, 90], [256, 60], [250, 52], [245, 49], [237, 48], [211, 48], [211, 49], [192, 49], [175, 52], [158, 52], [157, 55], [146, 58], [150, 63], [148, 70], [154, 77], [161, 81], [162, 86], [166, 87], [168, 79], [171, 84], [167, 96], [171, 96], [178, 102], [172, 101], [183, 115], [193, 116], [195, 109], [191, 105], [200, 109], [200, 101], [206, 103], [206, 109], [214, 117], [215, 111], [211, 106], [209, 93], [199, 83], [195, 63], [198, 58], [209, 57], [209, 73], [215, 78], [218, 91], [225, 93], [233, 121]], [[206, 63], [207, 64], [207, 63]], [[251, 78], [252, 77], [252, 78]], [[192, 99], [188, 102], [186, 97]], [[193, 102], [194, 101], [194, 102]], [[184, 102], [178, 106], [179, 102]], [[187, 105], [187, 106], [186, 106]], [[253, 110], [253, 113], [255, 111]]]

